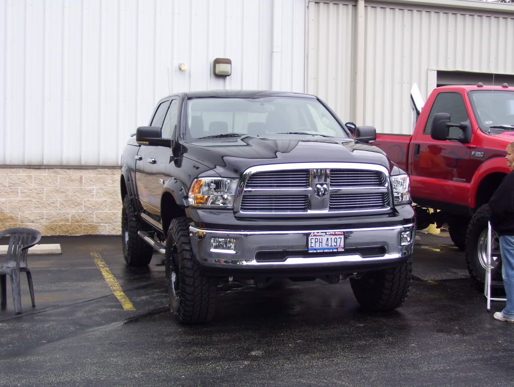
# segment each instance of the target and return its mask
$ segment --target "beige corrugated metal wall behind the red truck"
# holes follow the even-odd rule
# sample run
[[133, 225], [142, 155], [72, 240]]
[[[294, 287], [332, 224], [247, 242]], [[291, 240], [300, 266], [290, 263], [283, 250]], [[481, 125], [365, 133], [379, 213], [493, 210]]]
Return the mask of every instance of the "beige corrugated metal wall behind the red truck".
[[[465, 8], [470, 2], [452, 2], [461, 8], [398, 3], [365, 2], [362, 101], [352, 97], [359, 69], [353, 68], [350, 78], [352, 60], [340, 64], [340, 58], [356, 54], [349, 43], [355, 32], [348, 20], [353, 15], [355, 25], [355, 2], [309, 3], [307, 89], [324, 98], [343, 120], [374, 125], [378, 132], [411, 133], [410, 88], [417, 83], [426, 97], [435, 87], [431, 70], [514, 73], [514, 13], [504, 11], [509, 5], [481, 3], [489, 8], [473, 10]], [[323, 45], [313, 47], [313, 42]], [[331, 82], [342, 84], [344, 91]], [[355, 117], [355, 104], [363, 104], [362, 120]]]

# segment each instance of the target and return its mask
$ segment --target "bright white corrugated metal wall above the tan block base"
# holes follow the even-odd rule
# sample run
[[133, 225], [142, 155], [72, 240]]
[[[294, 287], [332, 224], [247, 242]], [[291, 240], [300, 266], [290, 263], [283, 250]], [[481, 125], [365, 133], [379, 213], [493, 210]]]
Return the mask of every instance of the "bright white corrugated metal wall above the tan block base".
[[[303, 91], [305, 1], [277, 1], [275, 83]], [[0, 0], [0, 165], [118, 165], [169, 91], [271, 88], [272, 5]], [[216, 57], [232, 60], [230, 77], [212, 76]]]

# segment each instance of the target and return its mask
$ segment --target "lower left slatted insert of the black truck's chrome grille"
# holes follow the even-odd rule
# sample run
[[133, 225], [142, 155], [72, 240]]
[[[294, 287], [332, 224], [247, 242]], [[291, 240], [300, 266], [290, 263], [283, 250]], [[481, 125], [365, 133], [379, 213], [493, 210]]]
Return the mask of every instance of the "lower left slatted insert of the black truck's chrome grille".
[[304, 212], [307, 211], [307, 204], [307, 195], [246, 195], [241, 201], [241, 211]]

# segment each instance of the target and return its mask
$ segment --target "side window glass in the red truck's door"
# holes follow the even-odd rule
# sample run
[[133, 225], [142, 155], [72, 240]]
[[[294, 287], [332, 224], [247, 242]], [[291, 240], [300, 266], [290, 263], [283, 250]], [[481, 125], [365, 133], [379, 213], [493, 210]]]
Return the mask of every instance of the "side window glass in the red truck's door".
[[[424, 134], [430, 134], [432, 127], [432, 121], [437, 113], [448, 113], [451, 118], [451, 122], [459, 123], [466, 122], [469, 120], [466, 106], [462, 96], [458, 93], [440, 93], [435, 97], [432, 110], [427, 120], [427, 126], [425, 126]], [[450, 137], [458, 137], [462, 134], [462, 131], [457, 127], [450, 128]]]

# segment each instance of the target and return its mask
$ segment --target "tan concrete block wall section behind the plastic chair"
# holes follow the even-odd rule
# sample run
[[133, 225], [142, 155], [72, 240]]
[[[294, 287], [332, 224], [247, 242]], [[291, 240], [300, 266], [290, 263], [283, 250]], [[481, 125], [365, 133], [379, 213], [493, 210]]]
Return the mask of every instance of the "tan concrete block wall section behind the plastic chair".
[[0, 230], [121, 234], [118, 169], [0, 168]]

